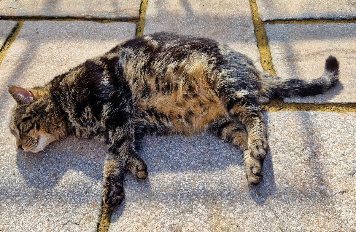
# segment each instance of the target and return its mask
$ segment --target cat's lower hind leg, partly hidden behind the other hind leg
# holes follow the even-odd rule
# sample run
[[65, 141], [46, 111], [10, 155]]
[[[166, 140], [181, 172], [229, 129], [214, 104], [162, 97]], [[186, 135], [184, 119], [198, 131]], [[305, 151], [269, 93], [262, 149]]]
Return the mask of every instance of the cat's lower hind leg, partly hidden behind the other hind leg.
[[263, 159], [255, 158], [248, 148], [248, 133], [245, 127], [237, 121], [225, 121], [217, 123], [210, 131], [224, 141], [241, 148], [244, 154], [246, 178], [250, 185], [254, 186], [262, 180]]

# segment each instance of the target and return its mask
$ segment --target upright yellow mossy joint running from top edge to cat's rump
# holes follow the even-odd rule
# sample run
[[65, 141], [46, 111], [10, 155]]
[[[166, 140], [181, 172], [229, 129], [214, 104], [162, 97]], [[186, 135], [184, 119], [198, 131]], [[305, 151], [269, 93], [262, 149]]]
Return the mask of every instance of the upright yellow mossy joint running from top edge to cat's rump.
[[262, 68], [269, 74], [276, 75], [276, 72], [274, 72], [273, 69], [271, 51], [269, 50], [266, 30], [264, 27], [266, 23], [261, 20], [261, 17], [258, 14], [256, 0], [250, 0], [250, 6], [252, 12], [253, 26], [255, 26], [257, 47], [261, 55]]

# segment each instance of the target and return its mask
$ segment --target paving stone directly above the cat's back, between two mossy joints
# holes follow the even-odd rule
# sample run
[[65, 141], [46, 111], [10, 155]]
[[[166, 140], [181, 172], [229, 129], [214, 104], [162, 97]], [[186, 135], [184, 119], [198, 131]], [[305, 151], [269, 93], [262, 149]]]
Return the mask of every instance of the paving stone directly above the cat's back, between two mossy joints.
[[150, 0], [144, 35], [172, 31], [228, 44], [261, 67], [248, 0]]

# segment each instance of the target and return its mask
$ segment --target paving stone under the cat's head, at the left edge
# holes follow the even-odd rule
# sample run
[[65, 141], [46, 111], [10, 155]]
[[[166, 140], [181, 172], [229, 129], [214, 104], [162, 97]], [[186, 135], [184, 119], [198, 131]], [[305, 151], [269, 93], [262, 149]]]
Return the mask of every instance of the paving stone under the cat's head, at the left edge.
[[0, 67], [0, 231], [95, 231], [105, 145], [73, 136], [45, 152], [16, 149], [7, 86], [42, 85], [135, 37], [126, 22], [26, 21]]

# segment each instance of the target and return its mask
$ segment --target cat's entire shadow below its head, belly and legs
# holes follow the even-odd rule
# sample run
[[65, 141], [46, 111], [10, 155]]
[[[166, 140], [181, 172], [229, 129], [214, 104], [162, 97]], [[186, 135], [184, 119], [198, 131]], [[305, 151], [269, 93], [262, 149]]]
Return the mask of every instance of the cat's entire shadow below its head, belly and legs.
[[[46, 153], [17, 152], [17, 165], [27, 187], [53, 189], [66, 178], [67, 173], [73, 172], [82, 172], [87, 178], [101, 183], [106, 154], [104, 143], [70, 136], [51, 145], [57, 148], [47, 147], [51, 151], [45, 150]], [[210, 133], [191, 138], [148, 136], [143, 141], [140, 155], [148, 166], [148, 178], [144, 182], [137, 181], [126, 172], [125, 187], [130, 189], [135, 185], [146, 194], [151, 191], [150, 175], [183, 173], [186, 170], [203, 173], [204, 177], [204, 172], [224, 171], [234, 165], [239, 178], [246, 181], [240, 149]], [[263, 180], [257, 187], [249, 188], [245, 182], [246, 190], [259, 205], [264, 205], [268, 196], [276, 191], [271, 154], [268, 154], [263, 168]], [[120, 207], [124, 209], [124, 206]]]

